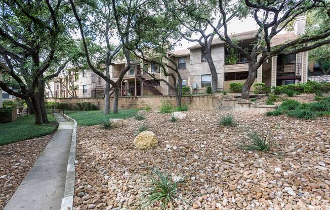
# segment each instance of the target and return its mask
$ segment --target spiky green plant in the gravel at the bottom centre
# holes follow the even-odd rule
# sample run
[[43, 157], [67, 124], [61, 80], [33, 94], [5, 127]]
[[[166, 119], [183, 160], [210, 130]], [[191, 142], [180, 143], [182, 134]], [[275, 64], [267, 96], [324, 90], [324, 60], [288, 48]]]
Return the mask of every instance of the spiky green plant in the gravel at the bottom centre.
[[181, 177], [175, 178], [152, 169], [151, 176], [142, 182], [142, 192], [134, 209], [145, 210], [152, 205], [160, 206], [157, 209], [161, 210], [179, 209], [180, 204], [186, 205], [179, 190], [179, 185], [183, 182], [184, 179]]

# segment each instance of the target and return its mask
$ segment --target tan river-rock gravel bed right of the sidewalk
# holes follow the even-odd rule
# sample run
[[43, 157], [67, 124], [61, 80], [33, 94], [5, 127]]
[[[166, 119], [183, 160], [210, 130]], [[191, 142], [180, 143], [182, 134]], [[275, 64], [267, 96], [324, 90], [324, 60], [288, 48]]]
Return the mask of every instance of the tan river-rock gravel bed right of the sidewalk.
[[[78, 128], [74, 209], [134, 209], [148, 167], [185, 177], [180, 189], [194, 209], [329, 209], [329, 117], [239, 112], [233, 113], [238, 125], [225, 127], [218, 125], [220, 112], [185, 113], [175, 123], [170, 114], [150, 111], [144, 121], [127, 119], [121, 128]], [[141, 123], [159, 141], [148, 151], [133, 144]], [[248, 129], [270, 130], [276, 146], [271, 152], [238, 149]]]

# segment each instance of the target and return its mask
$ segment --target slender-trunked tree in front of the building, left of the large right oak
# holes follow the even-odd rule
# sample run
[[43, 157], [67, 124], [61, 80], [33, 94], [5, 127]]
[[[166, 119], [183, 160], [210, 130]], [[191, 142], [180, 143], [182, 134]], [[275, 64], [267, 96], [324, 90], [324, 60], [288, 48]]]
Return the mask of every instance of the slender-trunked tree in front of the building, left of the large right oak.
[[[216, 31], [223, 27], [223, 18], [217, 8], [216, 1], [180, 1], [180, 0], [163, 0], [167, 12], [172, 15], [171, 21], [180, 23], [181, 36], [191, 42], [196, 42], [201, 46], [205, 55], [205, 62], [208, 63], [212, 75], [212, 91], [216, 92], [218, 88], [218, 73], [211, 56], [211, 45], [216, 33], [208, 32], [209, 22], [212, 23]], [[226, 1], [224, 6], [227, 14], [226, 22], [234, 17], [241, 17], [245, 10], [241, 5], [232, 4]], [[191, 38], [192, 35], [199, 35], [198, 39]]]

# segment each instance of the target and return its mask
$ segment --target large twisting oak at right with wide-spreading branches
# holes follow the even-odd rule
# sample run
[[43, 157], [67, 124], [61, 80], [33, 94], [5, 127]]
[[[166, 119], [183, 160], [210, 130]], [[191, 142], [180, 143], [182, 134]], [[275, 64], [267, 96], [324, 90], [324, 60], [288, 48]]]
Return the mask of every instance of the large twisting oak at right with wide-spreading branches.
[[243, 49], [229, 37], [227, 20], [230, 16], [226, 12], [224, 5], [225, 2], [219, 0], [218, 7], [222, 15], [223, 33], [220, 32], [210, 20], [207, 21], [221, 40], [227, 42], [230, 47], [237, 50], [249, 61], [249, 76], [243, 85], [242, 98], [250, 98], [250, 88], [255, 81], [257, 70], [267, 59], [278, 54], [297, 54], [330, 43], [330, 25], [321, 24], [309, 28], [306, 33], [301, 34], [295, 40], [286, 41], [283, 44], [271, 47], [271, 40], [274, 36], [302, 14], [319, 10], [324, 14], [323, 22], [328, 23], [330, 18], [330, 6], [327, 2], [317, 0], [276, 0], [264, 2], [245, 0], [246, 7], [251, 11], [250, 15], [259, 26], [255, 34], [256, 41], [252, 51]]

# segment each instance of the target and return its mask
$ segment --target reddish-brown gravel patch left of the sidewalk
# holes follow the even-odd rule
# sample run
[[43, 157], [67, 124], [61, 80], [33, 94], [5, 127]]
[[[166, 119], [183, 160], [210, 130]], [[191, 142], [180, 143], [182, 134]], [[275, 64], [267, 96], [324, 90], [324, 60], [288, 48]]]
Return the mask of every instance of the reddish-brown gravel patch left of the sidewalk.
[[0, 210], [43, 152], [53, 134], [0, 146]]

